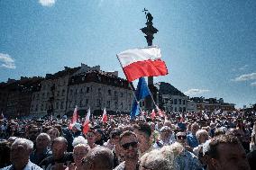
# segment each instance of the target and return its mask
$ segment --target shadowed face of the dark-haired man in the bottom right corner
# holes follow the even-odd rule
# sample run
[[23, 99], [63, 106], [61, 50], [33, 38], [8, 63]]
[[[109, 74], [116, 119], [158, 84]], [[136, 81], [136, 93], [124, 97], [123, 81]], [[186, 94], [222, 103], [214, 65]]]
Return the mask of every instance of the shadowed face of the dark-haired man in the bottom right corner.
[[218, 170], [249, 170], [250, 166], [241, 144], [220, 144], [217, 148], [219, 158], [216, 159]]

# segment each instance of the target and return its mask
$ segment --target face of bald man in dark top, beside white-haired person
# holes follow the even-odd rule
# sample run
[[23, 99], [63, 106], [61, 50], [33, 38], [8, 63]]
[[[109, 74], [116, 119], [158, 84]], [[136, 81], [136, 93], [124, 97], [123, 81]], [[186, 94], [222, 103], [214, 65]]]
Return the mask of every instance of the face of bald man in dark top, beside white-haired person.
[[52, 150], [52, 155], [54, 157], [54, 159], [60, 159], [64, 156], [66, 150], [67, 150], [67, 145], [65, 142], [62, 141], [55, 141], [52, 146], [51, 146], [51, 150]]

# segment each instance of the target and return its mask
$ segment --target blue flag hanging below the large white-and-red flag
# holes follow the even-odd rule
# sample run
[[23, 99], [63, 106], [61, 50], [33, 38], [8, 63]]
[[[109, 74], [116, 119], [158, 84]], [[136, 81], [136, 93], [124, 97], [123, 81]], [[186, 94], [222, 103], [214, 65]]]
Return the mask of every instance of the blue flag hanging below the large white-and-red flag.
[[[150, 95], [151, 91], [147, 85], [147, 82], [144, 77], [139, 79], [137, 89], [135, 92], [136, 99], [133, 100], [133, 108], [131, 112], [131, 120], [140, 114], [140, 101], [143, 100], [146, 96]], [[138, 101], [138, 102], [137, 102]]]

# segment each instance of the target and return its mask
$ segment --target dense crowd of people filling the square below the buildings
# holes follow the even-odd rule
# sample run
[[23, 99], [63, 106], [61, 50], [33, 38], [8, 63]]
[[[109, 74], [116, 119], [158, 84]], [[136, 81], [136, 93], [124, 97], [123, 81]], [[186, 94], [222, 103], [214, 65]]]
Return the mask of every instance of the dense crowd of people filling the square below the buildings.
[[0, 120], [4, 170], [253, 170], [255, 112]]

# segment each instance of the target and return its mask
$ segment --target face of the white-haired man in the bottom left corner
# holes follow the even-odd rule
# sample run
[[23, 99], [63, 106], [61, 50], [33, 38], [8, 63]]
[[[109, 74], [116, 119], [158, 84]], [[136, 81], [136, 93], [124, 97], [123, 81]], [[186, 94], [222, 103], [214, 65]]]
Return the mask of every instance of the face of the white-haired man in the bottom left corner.
[[14, 144], [11, 147], [11, 162], [17, 166], [25, 166], [30, 157], [30, 151], [22, 144]]

